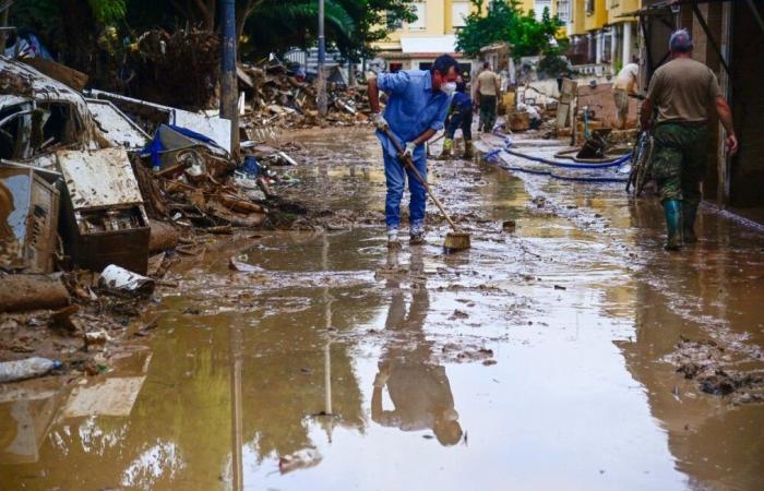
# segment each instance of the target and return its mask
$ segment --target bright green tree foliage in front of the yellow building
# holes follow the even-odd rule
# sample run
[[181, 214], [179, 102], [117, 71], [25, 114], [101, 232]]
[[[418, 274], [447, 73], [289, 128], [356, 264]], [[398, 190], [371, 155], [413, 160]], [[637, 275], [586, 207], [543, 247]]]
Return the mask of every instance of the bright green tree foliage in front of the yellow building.
[[516, 0], [490, 0], [486, 15], [486, 0], [470, 2], [476, 9], [456, 35], [456, 49], [470, 57], [478, 56], [485, 46], [502, 41], [512, 45], [515, 59], [537, 56], [552, 45], [554, 34], [563, 25], [546, 8], [540, 22], [533, 11], [524, 14]]

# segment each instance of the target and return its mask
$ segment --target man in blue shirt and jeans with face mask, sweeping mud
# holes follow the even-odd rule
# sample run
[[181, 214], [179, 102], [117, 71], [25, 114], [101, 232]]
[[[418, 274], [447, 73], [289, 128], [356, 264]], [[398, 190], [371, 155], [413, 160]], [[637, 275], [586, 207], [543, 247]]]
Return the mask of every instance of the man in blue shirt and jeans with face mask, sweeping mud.
[[[385, 224], [389, 246], [399, 243], [401, 199], [406, 177], [411, 193], [410, 243], [423, 242], [427, 191], [410, 170], [404, 169], [395, 145], [384, 134], [384, 130], [390, 130], [398, 142], [405, 144], [404, 153], [413, 158], [416, 169], [427, 179], [425, 142], [443, 128], [451, 95], [456, 88], [457, 69], [454, 58], [442, 55], [435, 59], [430, 71], [384, 72], [369, 80], [369, 104], [378, 130], [377, 136], [382, 143], [387, 183]], [[380, 89], [387, 94], [384, 116], [380, 113]]]

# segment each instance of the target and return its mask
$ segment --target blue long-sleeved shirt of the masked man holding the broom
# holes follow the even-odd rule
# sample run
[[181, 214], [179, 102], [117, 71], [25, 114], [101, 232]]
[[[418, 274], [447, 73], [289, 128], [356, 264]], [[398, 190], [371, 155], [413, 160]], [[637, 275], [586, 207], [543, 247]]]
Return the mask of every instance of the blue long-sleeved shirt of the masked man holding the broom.
[[[377, 76], [377, 86], [389, 96], [384, 119], [402, 146], [416, 140], [428, 129], [443, 129], [450, 97], [432, 87], [432, 75], [429, 71], [380, 73]], [[397, 155], [395, 146], [384, 133], [378, 131], [377, 136], [389, 155]], [[423, 152], [423, 145], [419, 145], [415, 151], [422, 155]]]

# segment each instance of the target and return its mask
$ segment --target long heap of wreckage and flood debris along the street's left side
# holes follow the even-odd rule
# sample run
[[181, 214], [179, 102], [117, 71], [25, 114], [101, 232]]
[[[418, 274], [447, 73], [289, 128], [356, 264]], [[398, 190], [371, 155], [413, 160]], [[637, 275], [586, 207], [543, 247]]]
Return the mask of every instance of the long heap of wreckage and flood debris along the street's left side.
[[[140, 87], [131, 93], [142, 98], [81, 93], [0, 57], [3, 359], [34, 354], [73, 370], [93, 366], [97, 352], [105, 366], [121, 338], [147, 331], [133, 326], [154, 288], [172, 287], [169, 267], [201, 254], [210, 236], [315, 226], [273, 191], [299, 182], [277, 169], [296, 166], [302, 148], [280, 142], [276, 129], [319, 123], [315, 85], [277, 60], [240, 65], [235, 146], [218, 111], [183, 109], [215, 98], [218, 48], [210, 33], [145, 33], [127, 48], [130, 83]], [[189, 70], [201, 75], [189, 79]], [[339, 75], [330, 79], [322, 121], [365, 123], [362, 92]], [[322, 219], [329, 228], [351, 223]]]

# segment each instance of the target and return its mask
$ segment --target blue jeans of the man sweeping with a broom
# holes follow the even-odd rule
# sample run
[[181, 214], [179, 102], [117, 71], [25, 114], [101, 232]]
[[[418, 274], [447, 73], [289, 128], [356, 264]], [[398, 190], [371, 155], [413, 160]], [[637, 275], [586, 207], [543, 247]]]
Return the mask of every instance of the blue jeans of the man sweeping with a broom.
[[[406, 175], [408, 175], [408, 189], [411, 192], [411, 201], [408, 205], [410, 225], [413, 228], [425, 225], [425, 209], [427, 204], [427, 191], [419, 180], [409, 169], [386, 152], [384, 155], [384, 177], [387, 182], [387, 197], [384, 203], [385, 224], [387, 228], [398, 228], [401, 226], [401, 199], [406, 185]], [[427, 153], [425, 146], [419, 146], [414, 152], [414, 166], [417, 168], [422, 179], [427, 180]]]

